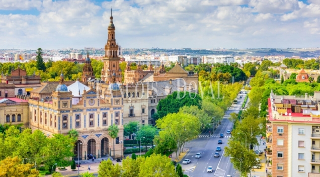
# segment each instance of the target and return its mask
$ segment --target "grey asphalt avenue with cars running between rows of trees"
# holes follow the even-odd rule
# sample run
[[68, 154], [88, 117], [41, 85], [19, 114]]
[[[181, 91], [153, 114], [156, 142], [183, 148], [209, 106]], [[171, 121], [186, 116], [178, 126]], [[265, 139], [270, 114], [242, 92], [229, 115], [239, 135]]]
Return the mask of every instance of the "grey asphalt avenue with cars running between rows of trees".
[[[244, 91], [243, 91], [244, 93]], [[240, 99], [239, 96], [242, 96]], [[184, 173], [193, 177], [205, 177], [205, 176], [226, 176], [230, 174], [232, 176], [239, 176], [239, 172], [233, 168], [232, 163], [230, 162], [230, 157], [225, 157], [224, 147], [227, 146], [227, 141], [231, 137], [231, 135], [227, 135], [227, 130], [231, 130], [232, 123], [227, 119], [230, 113], [238, 113], [241, 108], [245, 94], [239, 94], [237, 96], [238, 103], [233, 104], [228, 111], [225, 112], [225, 116], [221, 121], [221, 125], [214, 131], [213, 135], [209, 137], [209, 133], [203, 133], [199, 136], [199, 138], [192, 140], [186, 144], [186, 147], [189, 148], [189, 152], [184, 159], [191, 159], [191, 163], [182, 164], [182, 168], [184, 169]], [[224, 134], [223, 138], [219, 138], [220, 133]], [[218, 144], [218, 140], [222, 140], [222, 144]], [[216, 152], [216, 147], [220, 146], [221, 151], [219, 152], [220, 157], [214, 157], [214, 153]], [[201, 158], [195, 158], [197, 152], [202, 153]], [[212, 166], [213, 172], [207, 172], [207, 167]]]

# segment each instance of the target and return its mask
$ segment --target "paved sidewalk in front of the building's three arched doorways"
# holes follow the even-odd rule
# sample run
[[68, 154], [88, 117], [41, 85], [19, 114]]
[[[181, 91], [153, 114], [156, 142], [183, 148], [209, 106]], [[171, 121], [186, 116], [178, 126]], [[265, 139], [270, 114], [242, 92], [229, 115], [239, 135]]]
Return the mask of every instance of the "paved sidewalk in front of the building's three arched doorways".
[[[145, 154], [145, 152], [141, 152], [141, 154]], [[124, 154], [124, 156], [122, 156], [122, 159], [126, 158], [127, 156], [131, 157], [132, 154]], [[136, 155], [139, 155], [139, 153], [136, 153]], [[97, 158], [95, 159], [95, 161], [93, 162], [92, 159], [90, 160], [79, 160], [80, 163], [80, 167], [79, 167], [79, 173], [83, 173], [86, 171], [89, 171], [91, 173], [97, 173], [98, 172], [98, 167], [100, 164], [100, 161], [103, 160], [108, 160], [109, 157], [103, 157], [103, 158]], [[117, 159], [113, 160], [112, 158], [110, 158], [110, 160], [112, 161], [113, 164], [119, 164], [122, 165], [122, 160], [120, 162], [117, 162]], [[75, 163], [78, 163], [77, 160], [75, 160]], [[90, 165], [91, 170], [88, 170], [88, 165]], [[74, 176], [78, 174], [78, 168], [76, 168], [74, 171], [71, 170], [70, 166], [65, 167], [66, 170], [59, 170], [58, 168], [56, 168], [57, 172], [60, 172], [63, 176]], [[51, 174], [45, 175], [45, 176], [52, 176]]]

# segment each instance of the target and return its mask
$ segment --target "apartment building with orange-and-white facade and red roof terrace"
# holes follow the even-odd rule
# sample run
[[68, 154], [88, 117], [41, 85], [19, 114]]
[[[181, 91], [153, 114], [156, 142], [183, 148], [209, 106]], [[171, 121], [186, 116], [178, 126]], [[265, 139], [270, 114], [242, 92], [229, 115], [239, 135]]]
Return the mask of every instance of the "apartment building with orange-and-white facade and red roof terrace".
[[[267, 168], [272, 176], [320, 175], [320, 92], [268, 100]], [[314, 176], [314, 175], [313, 175]]]

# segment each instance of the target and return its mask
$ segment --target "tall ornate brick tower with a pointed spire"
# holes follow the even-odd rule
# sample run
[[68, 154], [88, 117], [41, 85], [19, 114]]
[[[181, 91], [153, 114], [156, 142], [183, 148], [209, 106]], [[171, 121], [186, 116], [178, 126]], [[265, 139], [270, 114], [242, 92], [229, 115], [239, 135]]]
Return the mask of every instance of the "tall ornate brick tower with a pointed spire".
[[[115, 26], [113, 24], [112, 10], [110, 23], [108, 26], [108, 41], [105, 45], [105, 55], [103, 57], [104, 65], [102, 69], [101, 79], [106, 83], [121, 82], [121, 69], [119, 66], [119, 46], [116, 43]], [[114, 76], [112, 78], [112, 76]]]

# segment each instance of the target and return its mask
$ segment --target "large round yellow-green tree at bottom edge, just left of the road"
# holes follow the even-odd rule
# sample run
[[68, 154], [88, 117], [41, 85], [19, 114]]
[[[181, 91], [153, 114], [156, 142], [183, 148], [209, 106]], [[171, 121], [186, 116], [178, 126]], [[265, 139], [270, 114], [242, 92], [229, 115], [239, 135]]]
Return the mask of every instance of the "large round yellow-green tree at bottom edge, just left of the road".
[[[142, 158], [142, 157], [139, 157]], [[177, 176], [171, 159], [165, 155], [152, 154], [140, 164], [139, 177]]]

